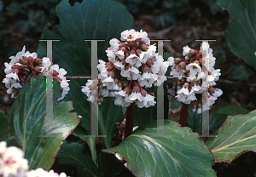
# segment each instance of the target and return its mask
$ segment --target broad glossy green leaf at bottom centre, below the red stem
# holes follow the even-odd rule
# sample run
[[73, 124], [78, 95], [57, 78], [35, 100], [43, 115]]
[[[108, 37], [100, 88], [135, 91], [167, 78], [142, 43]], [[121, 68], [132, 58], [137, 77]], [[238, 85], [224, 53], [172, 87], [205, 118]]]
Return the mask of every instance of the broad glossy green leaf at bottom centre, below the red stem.
[[111, 168], [107, 159], [112, 155], [135, 176], [216, 176], [211, 151], [198, 134], [170, 120], [159, 127], [164, 135], [157, 134], [156, 126], [157, 121], [141, 126], [119, 146], [103, 150], [102, 169]]

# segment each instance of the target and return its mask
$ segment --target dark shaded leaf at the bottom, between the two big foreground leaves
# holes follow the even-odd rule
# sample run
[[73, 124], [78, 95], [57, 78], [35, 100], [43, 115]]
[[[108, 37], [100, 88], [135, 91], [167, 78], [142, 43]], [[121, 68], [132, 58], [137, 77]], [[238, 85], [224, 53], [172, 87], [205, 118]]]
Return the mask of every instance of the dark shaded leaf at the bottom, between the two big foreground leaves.
[[86, 151], [78, 143], [64, 143], [58, 153], [58, 161], [60, 164], [71, 164], [74, 168], [79, 168], [79, 171], [83, 169], [85, 176], [100, 176], [99, 169], [90, 157], [90, 151]]

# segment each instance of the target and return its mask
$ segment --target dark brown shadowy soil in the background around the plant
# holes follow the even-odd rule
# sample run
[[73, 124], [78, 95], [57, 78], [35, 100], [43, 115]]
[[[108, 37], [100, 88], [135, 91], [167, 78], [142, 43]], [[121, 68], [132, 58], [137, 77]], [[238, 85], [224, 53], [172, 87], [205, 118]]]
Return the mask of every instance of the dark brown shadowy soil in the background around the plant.
[[[220, 107], [234, 105], [244, 107], [249, 111], [253, 111], [256, 108], [256, 75], [253, 74], [246, 81], [235, 80], [232, 77], [232, 70], [235, 66], [245, 66], [247, 70], [256, 72], [252, 66], [247, 65], [243, 60], [239, 59], [235, 54], [230, 52], [225, 45], [225, 29], [229, 24], [230, 16], [225, 11], [224, 14], [213, 15], [209, 13], [209, 10], [205, 7], [198, 7], [192, 9], [191, 14], [195, 14], [194, 20], [188, 20], [180, 17], [177, 24], [174, 26], [166, 26], [165, 28], [155, 27], [152, 23], [154, 13], [142, 10], [140, 14], [135, 16], [135, 28], [137, 30], [143, 29], [148, 32], [150, 39], [171, 39], [171, 42], [165, 42], [165, 52], [172, 53], [174, 57], [180, 57], [183, 52], [183, 46], [188, 45], [190, 48], [198, 50], [201, 42], [195, 42], [195, 39], [215, 39], [215, 42], [210, 42], [210, 46], [213, 49], [223, 49], [223, 52], [218, 56], [222, 58], [221, 64], [218, 68], [221, 70], [221, 76], [218, 80], [216, 87], [223, 90], [223, 94], [218, 98], [216, 103], [212, 106], [211, 111], [217, 110]], [[38, 47], [38, 40], [40, 39], [40, 33], [29, 32], [28, 34], [21, 33], [17, 27], [15, 27], [15, 21], [19, 20], [19, 16], [13, 16], [3, 9], [3, 24], [1, 28], [2, 33], [2, 51], [7, 50], [9, 46], [13, 46], [22, 49], [23, 45], [26, 45], [26, 49], [30, 52], [35, 52]], [[32, 37], [34, 42], [24, 43], [25, 37]], [[3, 52], [4, 53], [4, 52]], [[216, 57], [216, 56], [215, 56]], [[8, 61], [9, 56], [0, 56], [0, 80], [3, 81], [5, 77], [4, 62]], [[216, 68], [217, 69], [217, 68]], [[0, 82], [0, 111], [6, 115], [12, 106], [15, 99], [10, 98], [10, 94], [6, 93], [4, 83]], [[170, 118], [179, 117], [178, 115], [170, 115]], [[255, 153], [252, 153], [253, 162], [256, 164]], [[236, 170], [250, 171], [248, 175], [241, 176], [256, 176], [255, 168], [253, 166], [250, 170], [247, 167], [243, 167], [243, 155], [236, 159], [238, 163], [230, 163], [222, 165], [218, 163], [214, 165], [218, 171], [218, 176], [224, 176], [224, 171], [227, 172], [232, 167], [236, 166]], [[240, 159], [240, 160], [239, 160]], [[237, 165], [239, 164], [239, 165]], [[254, 170], [253, 170], [254, 168]], [[249, 173], [249, 172], [248, 172]], [[228, 176], [228, 175], [226, 175]], [[231, 175], [229, 175], [231, 176]], [[238, 176], [238, 174], [237, 174]]]

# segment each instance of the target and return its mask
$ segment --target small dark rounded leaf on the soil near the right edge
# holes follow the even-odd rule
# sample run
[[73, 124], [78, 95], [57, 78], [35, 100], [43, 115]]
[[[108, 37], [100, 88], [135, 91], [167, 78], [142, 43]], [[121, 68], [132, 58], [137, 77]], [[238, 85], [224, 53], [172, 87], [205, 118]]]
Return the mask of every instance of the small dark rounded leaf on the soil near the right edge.
[[253, 71], [247, 71], [244, 66], [235, 66], [232, 71], [232, 77], [241, 81], [246, 81], [252, 74]]

